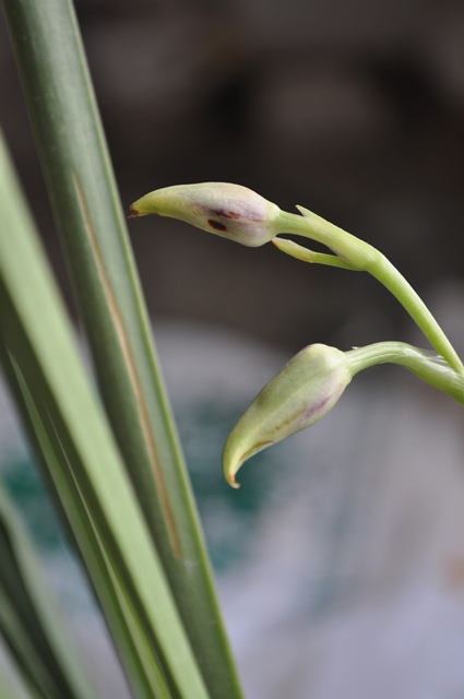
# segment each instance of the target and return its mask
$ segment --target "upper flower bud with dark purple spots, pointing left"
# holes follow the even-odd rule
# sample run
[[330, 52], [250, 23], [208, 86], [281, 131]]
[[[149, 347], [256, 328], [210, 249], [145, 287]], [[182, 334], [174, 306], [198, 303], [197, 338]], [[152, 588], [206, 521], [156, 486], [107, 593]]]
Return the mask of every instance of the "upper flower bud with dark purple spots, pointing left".
[[203, 182], [156, 189], [130, 208], [131, 216], [158, 214], [249, 247], [264, 245], [277, 230], [273, 222], [279, 209], [240, 185]]

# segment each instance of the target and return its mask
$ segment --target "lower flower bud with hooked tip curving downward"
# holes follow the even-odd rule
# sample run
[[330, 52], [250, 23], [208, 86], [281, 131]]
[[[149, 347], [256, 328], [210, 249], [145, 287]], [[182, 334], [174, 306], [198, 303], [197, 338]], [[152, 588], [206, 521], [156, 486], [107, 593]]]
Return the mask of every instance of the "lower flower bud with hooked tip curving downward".
[[317, 423], [335, 405], [352, 380], [345, 353], [313, 344], [295, 355], [260, 391], [224, 446], [223, 470], [238, 487], [241, 464], [262, 449]]

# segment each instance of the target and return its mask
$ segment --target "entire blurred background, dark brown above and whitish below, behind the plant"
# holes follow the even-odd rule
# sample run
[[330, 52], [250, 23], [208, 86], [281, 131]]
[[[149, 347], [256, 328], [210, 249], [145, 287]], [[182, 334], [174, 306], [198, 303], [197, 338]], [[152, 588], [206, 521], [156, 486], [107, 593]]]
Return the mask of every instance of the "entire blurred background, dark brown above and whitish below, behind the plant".
[[[204, 180], [302, 204], [378, 246], [464, 353], [462, 0], [75, 7], [124, 206]], [[1, 17], [0, 121], [70, 299]], [[129, 228], [247, 697], [463, 697], [462, 408], [379, 369], [333, 416], [257, 458], [239, 494], [218, 474], [228, 429], [292, 354], [311, 342], [424, 344], [405, 313], [368, 276], [272, 246], [155, 217]], [[9, 425], [4, 479], [44, 522]], [[87, 603], [53, 526], [38, 544], [85, 637]], [[102, 696], [127, 696], [110, 667]]]

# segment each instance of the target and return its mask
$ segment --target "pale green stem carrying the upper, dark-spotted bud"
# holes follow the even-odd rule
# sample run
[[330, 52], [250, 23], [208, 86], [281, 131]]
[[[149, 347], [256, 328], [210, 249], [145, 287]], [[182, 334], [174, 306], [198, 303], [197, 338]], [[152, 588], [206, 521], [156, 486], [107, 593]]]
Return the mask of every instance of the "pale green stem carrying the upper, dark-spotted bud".
[[420, 296], [385, 256], [368, 242], [356, 238], [338, 226], [334, 226], [307, 209], [302, 209], [302, 206], [298, 206], [298, 209], [302, 216], [281, 212], [275, 222], [278, 232], [300, 235], [322, 242], [349, 268], [369, 272], [400, 301], [436, 352], [444, 357], [454, 371], [464, 376], [463, 364], [437, 320]]

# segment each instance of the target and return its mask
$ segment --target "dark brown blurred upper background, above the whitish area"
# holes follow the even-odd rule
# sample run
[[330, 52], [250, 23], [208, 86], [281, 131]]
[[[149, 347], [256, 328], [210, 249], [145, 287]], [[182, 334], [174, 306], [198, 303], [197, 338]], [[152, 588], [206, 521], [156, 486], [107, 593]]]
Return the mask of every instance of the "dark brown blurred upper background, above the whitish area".
[[[78, 0], [124, 206], [172, 183], [247, 185], [378, 245], [427, 297], [464, 269], [462, 0]], [[3, 25], [0, 120], [66, 274]], [[401, 339], [372, 280], [130, 222], [153, 316], [297, 351]]]

